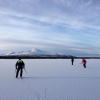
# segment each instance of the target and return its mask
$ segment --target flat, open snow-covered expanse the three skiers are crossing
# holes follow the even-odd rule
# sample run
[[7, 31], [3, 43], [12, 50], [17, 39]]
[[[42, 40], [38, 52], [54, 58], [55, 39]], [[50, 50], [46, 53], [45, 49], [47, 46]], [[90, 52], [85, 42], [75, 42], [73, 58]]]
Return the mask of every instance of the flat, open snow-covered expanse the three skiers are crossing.
[[22, 59], [23, 79], [15, 78], [16, 59], [0, 60], [0, 100], [100, 100], [100, 60]]

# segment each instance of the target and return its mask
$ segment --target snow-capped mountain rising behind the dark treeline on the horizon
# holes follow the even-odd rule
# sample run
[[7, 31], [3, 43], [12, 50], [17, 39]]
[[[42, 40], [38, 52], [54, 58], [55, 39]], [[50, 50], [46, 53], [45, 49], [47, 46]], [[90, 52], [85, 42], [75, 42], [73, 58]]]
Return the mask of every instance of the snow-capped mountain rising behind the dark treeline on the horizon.
[[47, 52], [39, 49], [31, 49], [27, 51], [21, 51], [21, 52], [9, 52], [3, 54], [5, 56], [9, 55], [63, 55], [62, 53], [55, 53], [55, 52]]

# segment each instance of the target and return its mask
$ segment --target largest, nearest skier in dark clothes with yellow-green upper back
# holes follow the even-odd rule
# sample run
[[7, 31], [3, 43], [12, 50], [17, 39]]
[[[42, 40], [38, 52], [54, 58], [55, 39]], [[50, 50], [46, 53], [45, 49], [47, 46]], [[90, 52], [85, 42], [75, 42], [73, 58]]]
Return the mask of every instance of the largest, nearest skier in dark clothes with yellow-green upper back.
[[20, 71], [20, 78], [22, 78], [23, 69], [25, 69], [25, 64], [21, 60], [21, 58], [19, 58], [19, 60], [16, 62], [15, 67], [16, 67], [16, 78], [18, 78], [19, 71]]

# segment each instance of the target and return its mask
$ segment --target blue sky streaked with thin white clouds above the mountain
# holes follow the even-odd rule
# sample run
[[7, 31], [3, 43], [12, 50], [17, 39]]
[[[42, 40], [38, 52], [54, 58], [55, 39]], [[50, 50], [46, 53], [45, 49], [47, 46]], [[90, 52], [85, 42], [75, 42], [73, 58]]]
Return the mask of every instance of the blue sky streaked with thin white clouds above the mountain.
[[37, 48], [100, 55], [100, 0], [0, 0], [0, 53]]

